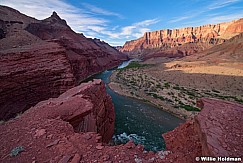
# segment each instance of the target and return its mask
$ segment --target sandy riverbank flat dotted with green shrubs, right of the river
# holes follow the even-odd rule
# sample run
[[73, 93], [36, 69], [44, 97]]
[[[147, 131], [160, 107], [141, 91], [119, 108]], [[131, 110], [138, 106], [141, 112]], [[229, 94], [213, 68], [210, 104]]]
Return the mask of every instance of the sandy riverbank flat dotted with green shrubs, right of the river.
[[[198, 114], [200, 108], [196, 107], [196, 101], [202, 97], [242, 102], [242, 97], [238, 93], [239, 88], [232, 86], [231, 91], [226, 89], [229, 87], [229, 83], [239, 85], [237, 82], [242, 79], [240, 77], [184, 73], [174, 70], [177, 67], [173, 66], [171, 60], [165, 60], [162, 63], [150, 61], [140, 64], [143, 66], [133, 65], [130, 68], [113, 71], [108, 86], [120, 95], [151, 103], [182, 119], [193, 118]], [[166, 67], [168, 64], [172, 68]], [[202, 65], [200, 66], [202, 67]], [[181, 67], [179, 66], [179, 68]], [[188, 67], [186, 68], [188, 69]], [[225, 81], [217, 84], [222, 77]]]

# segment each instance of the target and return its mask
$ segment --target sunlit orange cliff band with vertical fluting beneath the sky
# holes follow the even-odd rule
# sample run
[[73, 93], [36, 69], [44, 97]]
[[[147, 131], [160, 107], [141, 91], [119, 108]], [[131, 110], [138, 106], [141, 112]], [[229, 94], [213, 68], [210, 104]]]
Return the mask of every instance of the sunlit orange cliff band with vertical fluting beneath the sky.
[[180, 29], [146, 32], [142, 38], [128, 41], [119, 50], [130, 57], [147, 54], [183, 57], [203, 51], [243, 32], [243, 19], [216, 25], [203, 25]]

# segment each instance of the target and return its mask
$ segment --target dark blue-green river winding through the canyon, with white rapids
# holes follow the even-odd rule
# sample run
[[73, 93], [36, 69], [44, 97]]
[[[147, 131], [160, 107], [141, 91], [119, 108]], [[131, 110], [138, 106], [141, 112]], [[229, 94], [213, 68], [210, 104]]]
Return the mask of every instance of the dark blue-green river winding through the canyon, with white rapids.
[[[124, 62], [118, 68], [127, 66], [129, 62]], [[135, 144], [144, 145], [145, 150], [165, 149], [162, 133], [173, 130], [184, 121], [153, 105], [115, 93], [107, 86], [112, 71], [104, 71], [93, 78], [105, 82], [107, 93], [114, 103], [116, 112], [114, 143], [121, 144], [133, 140]]]

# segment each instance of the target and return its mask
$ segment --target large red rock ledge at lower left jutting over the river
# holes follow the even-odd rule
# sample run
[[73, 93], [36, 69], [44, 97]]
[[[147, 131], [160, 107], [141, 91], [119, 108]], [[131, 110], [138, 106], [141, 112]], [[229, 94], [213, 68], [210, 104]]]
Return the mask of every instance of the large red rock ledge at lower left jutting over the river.
[[[94, 80], [81, 84], [1, 125], [0, 160], [58, 162], [73, 154], [80, 158], [78, 150], [85, 154], [92, 144], [94, 149], [103, 148], [102, 142], [107, 143], [113, 135], [114, 122], [114, 107], [104, 83]], [[24, 151], [9, 157], [9, 150], [18, 146]]]

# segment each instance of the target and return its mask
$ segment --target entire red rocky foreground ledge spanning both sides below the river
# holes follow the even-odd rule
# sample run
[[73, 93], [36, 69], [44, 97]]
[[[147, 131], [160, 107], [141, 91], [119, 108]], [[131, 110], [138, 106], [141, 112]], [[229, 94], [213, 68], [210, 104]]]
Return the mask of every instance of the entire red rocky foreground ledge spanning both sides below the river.
[[128, 142], [109, 146], [115, 114], [101, 80], [38, 103], [0, 125], [1, 162], [195, 162], [195, 157], [243, 157], [243, 105], [201, 99], [198, 116], [163, 135], [166, 151]]

